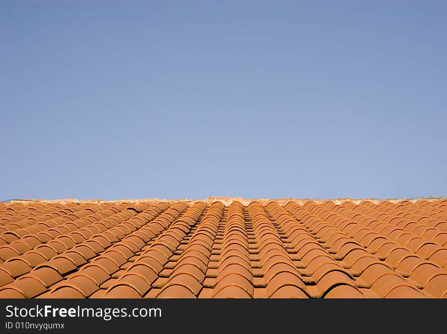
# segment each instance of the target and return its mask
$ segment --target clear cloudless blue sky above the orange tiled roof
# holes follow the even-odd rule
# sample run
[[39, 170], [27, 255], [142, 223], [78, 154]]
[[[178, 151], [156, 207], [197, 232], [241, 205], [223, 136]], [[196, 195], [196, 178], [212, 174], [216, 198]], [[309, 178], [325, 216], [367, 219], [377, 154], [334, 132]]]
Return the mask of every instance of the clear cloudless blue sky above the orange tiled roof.
[[0, 1], [0, 200], [447, 196], [445, 1]]

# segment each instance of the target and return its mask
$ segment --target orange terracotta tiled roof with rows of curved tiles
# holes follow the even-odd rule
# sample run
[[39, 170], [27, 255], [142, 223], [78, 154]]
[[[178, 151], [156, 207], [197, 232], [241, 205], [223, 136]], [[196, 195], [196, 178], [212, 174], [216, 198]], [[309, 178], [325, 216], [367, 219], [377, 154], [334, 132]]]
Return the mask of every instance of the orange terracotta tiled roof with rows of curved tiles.
[[447, 200], [0, 203], [0, 298], [445, 298]]

